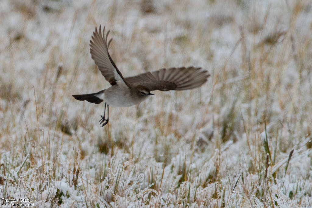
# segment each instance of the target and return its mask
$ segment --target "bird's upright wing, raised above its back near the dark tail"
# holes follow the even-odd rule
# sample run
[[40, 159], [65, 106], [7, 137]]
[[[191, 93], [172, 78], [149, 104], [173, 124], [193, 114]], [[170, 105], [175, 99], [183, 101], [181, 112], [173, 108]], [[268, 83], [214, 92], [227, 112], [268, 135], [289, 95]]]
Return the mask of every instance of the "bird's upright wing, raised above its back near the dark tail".
[[99, 32], [95, 27], [92, 40], [90, 40], [91, 57], [95, 61], [95, 64], [98, 66], [102, 75], [111, 85], [117, 84], [120, 86], [128, 87], [127, 83], [124, 80], [124, 77], [118, 70], [114, 61], [110, 57], [110, 53], [108, 52], [108, 47], [110, 46], [110, 43], [112, 41], [112, 39], [110, 39], [110, 41], [107, 42], [107, 36], [109, 33], [110, 31], [108, 31], [105, 35], [105, 27], [103, 28], [103, 34], [101, 31], [101, 26], [99, 28]]

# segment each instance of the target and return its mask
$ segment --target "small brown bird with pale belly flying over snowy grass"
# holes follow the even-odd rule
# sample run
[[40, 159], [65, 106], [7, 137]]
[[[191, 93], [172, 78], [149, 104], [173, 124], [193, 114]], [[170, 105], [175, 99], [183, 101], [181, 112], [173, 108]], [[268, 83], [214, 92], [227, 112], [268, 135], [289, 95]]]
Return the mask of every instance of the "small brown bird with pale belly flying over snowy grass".
[[[153, 90], [185, 90], [201, 86], [210, 76], [207, 70], [201, 67], [180, 67], [160, 69], [153, 72], [146, 72], [132, 77], [121, 74], [115, 62], [110, 57], [108, 48], [112, 38], [107, 42], [110, 31], [105, 35], [101, 26], [99, 31], [95, 27], [92, 39], [90, 40], [90, 53], [100, 72], [112, 86], [91, 94], [72, 95], [77, 100], [86, 100], [90, 103], [100, 104], [104, 101], [104, 115], [101, 115], [100, 125], [103, 127], [109, 121], [109, 106], [129, 107], [144, 101]], [[105, 111], [107, 106], [107, 118]]]

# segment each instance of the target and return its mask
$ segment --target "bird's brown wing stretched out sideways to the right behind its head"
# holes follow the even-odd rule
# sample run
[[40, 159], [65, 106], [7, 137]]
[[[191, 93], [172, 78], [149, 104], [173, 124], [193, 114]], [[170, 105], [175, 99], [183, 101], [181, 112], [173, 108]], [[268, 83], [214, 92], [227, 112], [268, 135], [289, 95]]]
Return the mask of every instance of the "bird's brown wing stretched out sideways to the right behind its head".
[[126, 77], [125, 81], [132, 86], [143, 85], [149, 90], [184, 90], [201, 86], [210, 76], [207, 70], [190, 66], [188, 68], [169, 68], [153, 72], [146, 72], [133, 77]]

